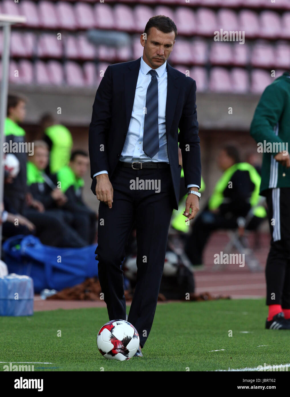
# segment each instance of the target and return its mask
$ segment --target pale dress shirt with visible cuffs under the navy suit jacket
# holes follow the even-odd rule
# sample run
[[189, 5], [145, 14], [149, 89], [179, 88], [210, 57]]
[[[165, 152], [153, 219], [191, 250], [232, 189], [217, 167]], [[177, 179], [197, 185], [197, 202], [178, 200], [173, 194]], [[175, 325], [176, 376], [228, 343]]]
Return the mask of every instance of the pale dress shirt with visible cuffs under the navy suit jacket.
[[[158, 81], [158, 132], [159, 132], [159, 151], [152, 158], [147, 156], [143, 151], [143, 133], [144, 133], [144, 119], [146, 107], [146, 93], [149, 83], [151, 81], [151, 74], [148, 73], [151, 67], [143, 61], [143, 56], [140, 62], [139, 75], [136, 85], [134, 104], [130, 119], [128, 132], [122, 153], [119, 160], [122, 162], [166, 162], [169, 164], [167, 154], [167, 141], [165, 129], [165, 110], [167, 98], [167, 70], [166, 62], [163, 65], [154, 69], [157, 73]], [[100, 171], [93, 176], [101, 173], [108, 173], [107, 171]], [[187, 185], [189, 187], [198, 187], [198, 185]]]

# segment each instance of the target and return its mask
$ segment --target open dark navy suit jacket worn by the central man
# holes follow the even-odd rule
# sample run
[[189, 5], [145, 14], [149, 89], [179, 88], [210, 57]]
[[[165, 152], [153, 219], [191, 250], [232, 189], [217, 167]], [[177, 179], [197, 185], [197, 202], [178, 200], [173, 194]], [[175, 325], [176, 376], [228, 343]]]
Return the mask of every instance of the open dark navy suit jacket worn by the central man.
[[[109, 178], [119, 161], [132, 114], [141, 58], [107, 67], [95, 95], [89, 128], [89, 154], [92, 192], [93, 175], [107, 170]], [[200, 139], [196, 111], [196, 83], [191, 77], [166, 63], [166, 138], [172, 177], [174, 208], [178, 208], [181, 166], [178, 164], [178, 142], [182, 153], [185, 186], [200, 186]], [[180, 132], [178, 133], [178, 128]], [[103, 145], [103, 146], [102, 146]]]

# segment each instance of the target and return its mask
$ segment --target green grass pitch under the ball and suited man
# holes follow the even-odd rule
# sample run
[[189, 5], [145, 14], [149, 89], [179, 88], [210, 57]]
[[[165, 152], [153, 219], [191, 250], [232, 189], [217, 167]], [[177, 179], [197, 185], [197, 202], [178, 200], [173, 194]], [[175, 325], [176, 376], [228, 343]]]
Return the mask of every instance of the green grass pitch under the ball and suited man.
[[34, 371], [46, 372], [210, 371], [289, 363], [289, 331], [265, 330], [266, 314], [264, 299], [157, 305], [144, 357], [124, 362], [106, 360], [97, 349], [106, 308], [1, 317], [0, 361], [52, 363], [34, 364]]

